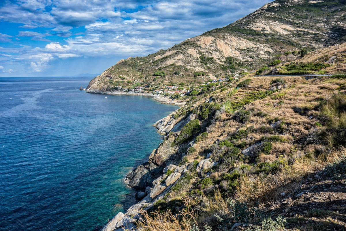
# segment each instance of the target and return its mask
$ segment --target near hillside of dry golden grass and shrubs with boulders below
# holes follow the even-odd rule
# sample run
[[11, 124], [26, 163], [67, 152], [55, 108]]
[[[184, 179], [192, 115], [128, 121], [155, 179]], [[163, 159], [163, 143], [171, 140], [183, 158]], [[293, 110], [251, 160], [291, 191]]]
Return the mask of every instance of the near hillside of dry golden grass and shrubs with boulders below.
[[127, 176], [138, 203], [103, 230], [346, 230], [345, 48], [296, 60], [340, 74], [247, 74], [155, 123], [164, 141]]

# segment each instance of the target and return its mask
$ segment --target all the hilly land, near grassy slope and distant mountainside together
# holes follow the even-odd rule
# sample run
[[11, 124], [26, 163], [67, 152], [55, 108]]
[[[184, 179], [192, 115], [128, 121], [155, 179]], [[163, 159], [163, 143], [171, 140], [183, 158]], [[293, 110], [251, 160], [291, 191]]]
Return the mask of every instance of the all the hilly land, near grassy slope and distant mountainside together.
[[345, 6], [275, 1], [92, 80], [187, 90], [163, 93], [186, 103], [154, 124], [163, 142], [126, 177], [138, 203], [103, 231], [346, 230]]

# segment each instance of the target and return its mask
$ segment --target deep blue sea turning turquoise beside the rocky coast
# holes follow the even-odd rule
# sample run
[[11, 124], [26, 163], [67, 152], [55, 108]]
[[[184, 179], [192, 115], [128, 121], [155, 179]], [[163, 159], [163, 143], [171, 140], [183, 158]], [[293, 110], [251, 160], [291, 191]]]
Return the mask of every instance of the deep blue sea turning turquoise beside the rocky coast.
[[124, 177], [178, 107], [88, 94], [91, 78], [0, 78], [0, 230], [101, 230], [135, 202]]

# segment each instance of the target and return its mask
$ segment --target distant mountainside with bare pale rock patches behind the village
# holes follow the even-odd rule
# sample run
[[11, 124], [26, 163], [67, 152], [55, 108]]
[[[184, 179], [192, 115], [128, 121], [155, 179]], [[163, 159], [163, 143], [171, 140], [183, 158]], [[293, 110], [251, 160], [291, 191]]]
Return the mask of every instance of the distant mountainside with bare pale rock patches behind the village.
[[167, 50], [120, 60], [87, 87], [107, 92], [136, 86], [203, 83], [257, 70], [275, 56], [345, 42], [345, 1], [277, 0], [252, 14]]

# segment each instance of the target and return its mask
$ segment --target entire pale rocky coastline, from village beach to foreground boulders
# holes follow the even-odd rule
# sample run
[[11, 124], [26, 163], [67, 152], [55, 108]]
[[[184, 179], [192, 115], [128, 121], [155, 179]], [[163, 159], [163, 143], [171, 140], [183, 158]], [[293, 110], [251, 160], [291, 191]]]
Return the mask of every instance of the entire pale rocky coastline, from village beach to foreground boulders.
[[[104, 94], [104, 95], [137, 95], [137, 96], [147, 96], [152, 97], [154, 100], [162, 103], [162, 104], [171, 104], [176, 106], [184, 106], [187, 102], [183, 100], [172, 100], [170, 97], [165, 97], [162, 95], [155, 95], [150, 93], [142, 93], [142, 92], [123, 92], [123, 91], [98, 91], [98, 90], [86, 90], [87, 93], [93, 93], [93, 94]], [[155, 122], [153, 126], [156, 128], [157, 132], [166, 135], [167, 132], [174, 129], [176, 126], [179, 125], [179, 121], [174, 118], [174, 114], [176, 111], [172, 112], [171, 114], [167, 115], [166, 117], [163, 117], [159, 121]], [[190, 119], [185, 119], [183, 122], [184, 124], [190, 121]], [[180, 128], [181, 124], [178, 126]], [[178, 128], [178, 129], [179, 129]], [[172, 139], [173, 137], [171, 137]], [[171, 140], [169, 139], [169, 140]], [[167, 143], [164, 139], [163, 143]], [[134, 190], [134, 194], [132, 194], [130, 198], [125, 199], [124, 201], [129, 202], [127, 206], [125, 207], [125, 212], [119, 212], [116, 216], [114, 216], [111, 220], [108, 221], [107, 224], [103, 226], [102, 231], [123, 231], [126, 230], [137, 230], [137, 222], [141, 219], [140, 212], [142, 210], [148, 210], [153, 206], [155, 201], [158, 199], [162, 199], [163, 196], [169, 191], [169, 189], [174, 185], [170, 185], [168, 187], [164, 187], [160, 190], [157, 190], [155, 187], [156, 185], [153, 184], [153, 179], [142, 179], [142, 172], [146, 169], [148, 170], [148, 173], [155, 171], [155, 169], [152, 169], [150, 165], [146, 165], [146, 163], [152, 163], [152, 158], [157, 158], [158, 156], [161, 156], [162, 151], [166, 151], [165, 147], [166, 145], [163, 145], [163, 143], [160, 143], [156, 149], [149, 155], [149, 157], [142, 160], [142, 163], [139, 163], [136, 166], [133, 166], [133, 169], [128, 172], [126, 177], [123, 179], [124, 183], [127, 185], [127, 187], [130, 187]], [[171, 146], [171, 142], [168, 144], [168, 146]], [[147, 162], [146, 162], [147, 161]], [[155, 164], [154, 164], [155, 165]], [[157, 163], [156, 163], [157, 165]], [[161, 167], [162, 166], [162, 167]], [[161, 163], [162, 169], [160, 172], [163, 171], [163, 166], [170, 167], [171, 165], [169, 163], [166, 163], [165, 161], [162, 161]], [[157, 167], [157, 166], [156, 166]], [[166, 168], [167, 168], [166, 167]], [[180, 173], [178, 178], [181, 178], [183, 175], [183, 170], [186, 166], [182, 166], [182, 168], [179, 169]], [[161, 173], [160, 178], [165, 177], [165, 173]], [[176, 178], [175, 181], [178, 179]], [[134, 179], [137, 179], [139, 181], [143, 181], [140, 184], [145, 185], [144, 188], [138, 188], [137, 186], [131, 185], [131, 181], [133, 183]], [[156, 179], [156, 178], [155, 178]], [[174, 183], [175, 183], [174, 181]], [[137, 182], [138, 183], [138, 182]], [[148, 186], [150, 185], [150, 186]], [[157, 191], [157, 192], [156, 192]], [[133, 199], [136, 199], [136, 201], [133, 201]], [[133, 202], [133, 204], [130, 205], [130, 203]]]

